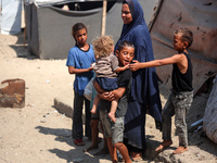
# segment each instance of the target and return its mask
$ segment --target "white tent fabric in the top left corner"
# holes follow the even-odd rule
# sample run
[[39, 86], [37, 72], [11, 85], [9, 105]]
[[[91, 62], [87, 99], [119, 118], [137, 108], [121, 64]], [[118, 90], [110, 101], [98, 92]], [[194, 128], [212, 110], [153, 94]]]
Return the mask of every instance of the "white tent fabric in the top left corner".
[[22, 0], [3, 0], [1, 34], [14, 35], [21, 32]]

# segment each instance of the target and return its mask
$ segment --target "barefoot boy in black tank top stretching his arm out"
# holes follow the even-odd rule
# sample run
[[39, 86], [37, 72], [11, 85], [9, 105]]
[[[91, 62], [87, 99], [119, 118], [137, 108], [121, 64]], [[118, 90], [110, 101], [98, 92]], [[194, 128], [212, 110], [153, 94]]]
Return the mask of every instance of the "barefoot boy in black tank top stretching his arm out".
[[178, 53], [170, 58], [154, 60], [151, 62], [130, 64], [131, 71], [139, 68], [173, 64], [171, 84], [173, 90], [162, 111], [163, 117], [163, 142], [155, 149], [156, 152], [170, 146], [171, 141], [171, 116], [175, 115], [175, 125], [179, 136], [179, 147], [174, 151], [175, 154], [183, 153], [188, 150], [187, 136], [187, 111], [193, 101], [192, 88], [192, 65], [191, 57], [187, 51], [193, 41], [193, 34], [187, 28], [180, 28], [174, 33], [174, 50]]

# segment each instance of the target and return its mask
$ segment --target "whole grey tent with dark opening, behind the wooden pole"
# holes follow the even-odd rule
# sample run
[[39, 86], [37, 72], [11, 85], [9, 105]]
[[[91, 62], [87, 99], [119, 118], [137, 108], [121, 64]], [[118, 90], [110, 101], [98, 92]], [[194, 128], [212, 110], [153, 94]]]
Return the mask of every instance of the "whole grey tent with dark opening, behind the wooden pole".
[[[144, 3], [143, 0], [140, 0]], [[149, 0], [154, 5], [157, 0]], [[75, 45], [72, 26], [82, 22], [88, 26], [88, 42], [101, 35], [102, 0], [35, 0], [25, 3], [29, 51], [40, 59], [65, 59]], [[69, 10], [63, 10], [67, 5]], [[62, 9], [63, 8], [63, 9]], [[122, 0], [108, 0], [106, 35], [116, 41], [120, 35]], [[148, 8], [145, 15], [151, 15]], [[146, 16], [148, 17], [148, 16]]]

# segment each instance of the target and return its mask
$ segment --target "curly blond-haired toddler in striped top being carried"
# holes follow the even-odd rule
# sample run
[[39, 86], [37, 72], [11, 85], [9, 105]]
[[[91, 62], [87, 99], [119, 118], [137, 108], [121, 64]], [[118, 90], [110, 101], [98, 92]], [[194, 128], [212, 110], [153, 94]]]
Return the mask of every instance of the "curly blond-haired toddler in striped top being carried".
[[[95, 72], [95, 82], [102, 88], [100, 92], [111, 91], [117, 89], [117, 73], [128, 68], [128, 65], [119, 67], [117, 57], [114, 55], [114, 40], [111, 36], [99, 37], [92, 42], [95, 55], [95, 65], [93, 71]], [[100, 97], [95, 96], [91, 113], [97, 112]], [[108, 113], [110, 118], [115, 122], [115, 112], [118, 100], [112, 101], [111, 111]]]

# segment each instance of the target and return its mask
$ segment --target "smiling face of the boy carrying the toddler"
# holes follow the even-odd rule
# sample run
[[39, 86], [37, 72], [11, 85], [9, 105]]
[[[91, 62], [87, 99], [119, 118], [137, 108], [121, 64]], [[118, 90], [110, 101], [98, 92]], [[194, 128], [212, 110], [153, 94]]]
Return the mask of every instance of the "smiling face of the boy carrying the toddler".
[[119, 61], [119, 66], [125, 66], [129, 64], [135, 57], [135, 48], [124, 47], [123, 50], [116, 50], [116, 57]]

